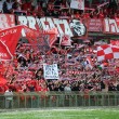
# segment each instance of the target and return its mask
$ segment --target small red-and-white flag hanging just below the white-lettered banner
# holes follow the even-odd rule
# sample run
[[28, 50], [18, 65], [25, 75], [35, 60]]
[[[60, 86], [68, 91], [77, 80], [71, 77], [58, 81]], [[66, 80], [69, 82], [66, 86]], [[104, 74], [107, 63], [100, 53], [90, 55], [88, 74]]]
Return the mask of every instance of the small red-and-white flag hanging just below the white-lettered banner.
[[71, 45], [70, 37], [68, 35], [61, 36], [60, 44], [61, 45]]

